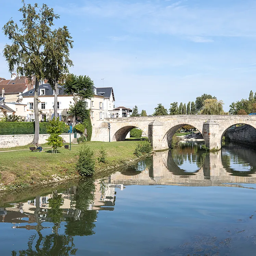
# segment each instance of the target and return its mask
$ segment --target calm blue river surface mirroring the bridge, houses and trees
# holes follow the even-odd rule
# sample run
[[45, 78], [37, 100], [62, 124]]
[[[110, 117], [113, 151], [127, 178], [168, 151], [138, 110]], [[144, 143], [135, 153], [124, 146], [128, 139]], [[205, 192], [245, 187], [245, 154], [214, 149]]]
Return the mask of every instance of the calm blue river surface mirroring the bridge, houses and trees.
[[0, 252], [255, 255], [255, 172], [255, 150], [187, 142], [109, 177], [5, 196]]

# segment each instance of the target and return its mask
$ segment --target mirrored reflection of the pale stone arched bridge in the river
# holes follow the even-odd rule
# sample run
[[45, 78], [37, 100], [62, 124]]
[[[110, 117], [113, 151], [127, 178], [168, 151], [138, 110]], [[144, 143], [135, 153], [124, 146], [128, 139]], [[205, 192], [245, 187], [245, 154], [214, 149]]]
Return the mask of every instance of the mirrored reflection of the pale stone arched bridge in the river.
[[[161, 184], [187, 186], [240, 186], [239, 183], [256, 183], [255, 150], [232, 143], [226, 144], [221, 152], [197, 154], [183, 152], [187, 166], [193, 165], [194, 171], [185, 170], [186, 166], [175, 151], [157, 152], [152, 163], [141, 172], [128, 169], [111, 175], [112, 184]], [[190, 152], [189, 152], [190, 151]], [[196, 159], [193, 159], [196, 157]], [[185, 162], [186, 162], [185, 161]]]

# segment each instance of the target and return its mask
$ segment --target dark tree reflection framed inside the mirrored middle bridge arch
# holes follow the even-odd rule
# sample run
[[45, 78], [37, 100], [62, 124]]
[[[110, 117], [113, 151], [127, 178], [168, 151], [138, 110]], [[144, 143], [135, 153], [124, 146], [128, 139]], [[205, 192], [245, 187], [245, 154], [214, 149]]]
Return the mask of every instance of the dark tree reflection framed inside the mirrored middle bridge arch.
[[[169, 150], [167, 168], [174, 175], [189, 176], [195, 175], [202, 168], [207, 153], [201, 149], [201, 143], [181, 143], [175, 149]], [[197, 169], [193, 172], [181, 169], [179, 166], [184, 163], [196, 163]]]

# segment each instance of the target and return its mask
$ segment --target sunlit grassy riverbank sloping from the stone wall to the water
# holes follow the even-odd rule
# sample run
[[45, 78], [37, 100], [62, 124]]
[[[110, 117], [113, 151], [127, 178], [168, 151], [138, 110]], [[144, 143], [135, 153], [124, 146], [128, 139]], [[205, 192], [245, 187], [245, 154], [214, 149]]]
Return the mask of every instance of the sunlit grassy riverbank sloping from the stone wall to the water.
[[[106, 164], [96, 162], [96, 174], [102, 169], [114, 168], [135, 160], [133, 152], [138, 143], [139, 141], [87, 142], [94, 151], [95, 158], [98, 157], [101, 146], [107, 152]], [[28, 146], [0, 149], [0, 183], [11, 185], [12, 188], [22, 188], [49, 181], [53, 175], [66, 178], [78, 176], [75, 165], [80, 145], [72, 144], [71, 151], [62, 147], [57, 154], [51, 154], [48, 146], [42, 145], [44, 151], [41, 153], [27, 150]]]

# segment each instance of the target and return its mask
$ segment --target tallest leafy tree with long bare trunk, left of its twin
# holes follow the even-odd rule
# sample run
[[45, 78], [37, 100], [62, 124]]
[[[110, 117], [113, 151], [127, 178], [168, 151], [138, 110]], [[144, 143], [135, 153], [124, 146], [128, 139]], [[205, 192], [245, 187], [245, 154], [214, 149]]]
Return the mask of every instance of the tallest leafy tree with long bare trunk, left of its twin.
[[13, 72], [16, 67], [18, 74], [25, 75], [31, 82], [33, 75], [36, 76], [34, 95], [35, 114], [35, 135], [33, 143], [38, 143], [39, 139], [39, 112], [38, 112], [38, 90], [39, 80], [43, 79], [44, 62], [48, 52], [45, 46], [51, 35], [51, 27], [54, 25], [54, 18], [59, 15], [54, 14], [52, 8], [43, 4], [39, 8], [38, 4], [25, 4], [19, 11], [23, 14], [20, 20], [20, 27], [13, 20], [9, 20], [3, 27], [3, 32], [8, 36], [12, 44], [6, 44], [3, 55], [8, 62], [9, 71]]

